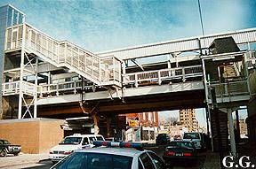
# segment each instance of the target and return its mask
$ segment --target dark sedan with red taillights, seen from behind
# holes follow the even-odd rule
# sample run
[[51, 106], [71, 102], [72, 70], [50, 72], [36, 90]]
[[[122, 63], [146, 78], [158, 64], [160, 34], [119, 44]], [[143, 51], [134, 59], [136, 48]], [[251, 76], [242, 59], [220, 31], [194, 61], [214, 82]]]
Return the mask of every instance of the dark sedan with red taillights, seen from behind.
[[172, 162], [183, 160], [196, 164], [196, 147], [188, 141], [172, 141], [164, 150], [163, 156], [165, 164], [172, 165]]

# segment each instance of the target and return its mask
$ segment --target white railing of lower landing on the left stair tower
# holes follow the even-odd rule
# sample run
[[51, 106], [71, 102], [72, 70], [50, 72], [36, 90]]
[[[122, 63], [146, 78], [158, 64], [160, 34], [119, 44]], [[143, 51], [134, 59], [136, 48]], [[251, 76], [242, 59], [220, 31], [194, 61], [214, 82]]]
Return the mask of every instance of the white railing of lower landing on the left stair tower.
[[28, 96], [35, 96], [37, 94], [37, 86], [35, 84], [27, 81], [22, 81], [21, 84], [20, 81], [12, 81], [2, 84], [2, 95], [18, 95], [20, 93], [20, 89], [23, 94]]

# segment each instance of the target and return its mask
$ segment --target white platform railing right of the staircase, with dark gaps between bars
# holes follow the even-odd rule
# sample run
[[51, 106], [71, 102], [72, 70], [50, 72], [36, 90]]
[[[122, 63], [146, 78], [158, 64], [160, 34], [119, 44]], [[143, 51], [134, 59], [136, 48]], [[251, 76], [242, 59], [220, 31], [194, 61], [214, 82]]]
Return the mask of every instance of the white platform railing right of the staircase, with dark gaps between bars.
[[175, 79], [186, 81], [191, 77], [203, 76], [203, 70], [202, 65], [193, 65], [140, 73], [126, 73], [123, 76], [124, 85], [135, 84], [135, 86], [138, 87], [139, 83], [142, 81], [156, 81], [159, 84], [161, 84], [162, 81], [172, 81]]

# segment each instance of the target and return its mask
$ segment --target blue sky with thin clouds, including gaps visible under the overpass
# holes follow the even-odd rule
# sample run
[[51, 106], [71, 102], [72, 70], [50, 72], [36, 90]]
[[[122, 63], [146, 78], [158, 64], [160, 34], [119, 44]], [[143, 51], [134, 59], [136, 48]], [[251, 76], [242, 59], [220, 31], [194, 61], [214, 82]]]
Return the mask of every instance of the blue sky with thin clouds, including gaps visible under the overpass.
[[[200, 2], [205, 35], [256, 27], [255, 0]], [[3, 4], [25, 12], [26, 21], [47, 35], [92, 52], [202, 35], [197, 0], [1, 0]], [[204, 111], [196, 111], [205, 126]]]

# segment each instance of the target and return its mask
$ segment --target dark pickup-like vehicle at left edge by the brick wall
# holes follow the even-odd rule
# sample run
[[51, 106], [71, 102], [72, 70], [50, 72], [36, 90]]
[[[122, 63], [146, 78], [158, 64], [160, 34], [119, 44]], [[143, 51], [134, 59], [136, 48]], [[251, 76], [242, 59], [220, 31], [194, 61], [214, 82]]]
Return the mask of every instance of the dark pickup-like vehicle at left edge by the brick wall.
[[21, 150], [20, 145], [14, 145], [7, 140], [0, 140], [0, 157], [5, 157], [7, 154], [18, 156]]

